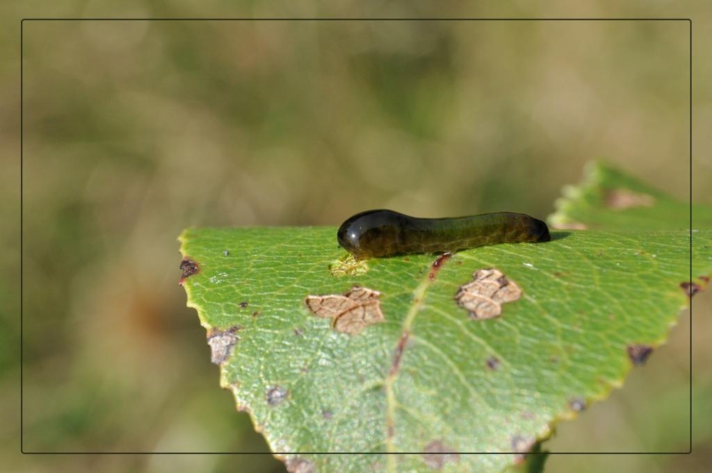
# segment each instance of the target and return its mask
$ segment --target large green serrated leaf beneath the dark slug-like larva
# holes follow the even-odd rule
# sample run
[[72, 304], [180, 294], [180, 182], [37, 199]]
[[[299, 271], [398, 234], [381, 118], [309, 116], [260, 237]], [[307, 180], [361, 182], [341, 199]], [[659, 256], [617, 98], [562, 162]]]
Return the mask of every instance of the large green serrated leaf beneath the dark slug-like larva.
[[[434, 255], [363, 267], [343, 258], [335, 235], [192, 228], [180, 237], [199, 269], [185, 278], [188, 305], [208, 330], [221, 386], [290, 471], [506, 469], [555, 422], [621, 386], [688, 303], [689, 230], [553, 231], [549, 243], [459, 252], [439, 271]], [[712, 231], [694, 235], [696, 275], [709, 275]], [[454, 297], [484, 268], [522, 294], [499, 317], [472, 319]], [[355, 285], [380, 293], [383, 315], [360, 334], [305, 304]]]

